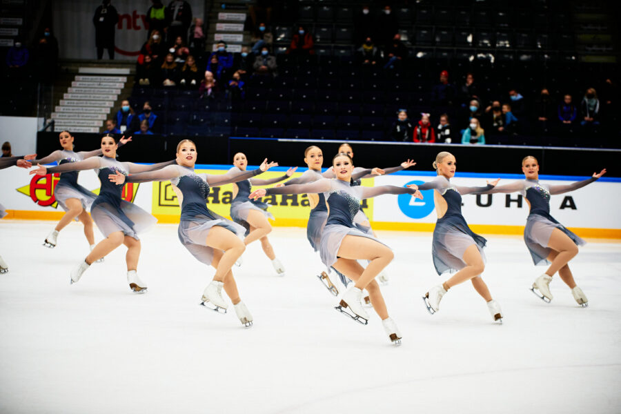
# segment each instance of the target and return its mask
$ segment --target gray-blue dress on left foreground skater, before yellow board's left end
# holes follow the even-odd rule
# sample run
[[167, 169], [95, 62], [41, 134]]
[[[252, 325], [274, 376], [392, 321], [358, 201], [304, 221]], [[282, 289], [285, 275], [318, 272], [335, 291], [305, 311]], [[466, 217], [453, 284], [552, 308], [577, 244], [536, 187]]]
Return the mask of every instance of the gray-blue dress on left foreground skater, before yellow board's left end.
[[181, 192], [181, 219], [179, 221], [179, 241], [199, 262], [210, 265], [213, 262], [213, 248], [206, 241], [214, 226], [226, 228], [238, 237], [244, 237], [246, 229], [233, 221], [214, 213], [206, 205], [210, 187], [224, 186], [236, 180], [245, 180], [262, 171], [251, 170], [228, 172], [224, 175], [197, 175], [193, 168], [167, 166], [153, 172], [133, 174], [128, 182], [168, 181]]

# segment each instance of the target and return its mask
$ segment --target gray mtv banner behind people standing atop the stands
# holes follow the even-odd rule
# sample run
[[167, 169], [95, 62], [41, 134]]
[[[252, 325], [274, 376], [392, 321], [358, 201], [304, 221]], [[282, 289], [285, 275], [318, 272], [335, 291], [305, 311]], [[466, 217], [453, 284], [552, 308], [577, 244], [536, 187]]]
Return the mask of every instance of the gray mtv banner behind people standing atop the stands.
[[[192, 7], [193, 17], [204, 17], [204, 1], [186, 0]], [[170, 1], [163, 1], [168, 6]], [[97, 59], [95, 26], [92, 17], [99, 0], [57, 0], [54, 2], [54, 34], [59, 42], [63, 59]], [[111, 5], [119, 13], [115, 32], [115, 59], [135, 61], [140, 48], [147, 40], [146, 12], [150, 0], [115, 1]], [[108, 58], [104, 52], [103, 58]]]

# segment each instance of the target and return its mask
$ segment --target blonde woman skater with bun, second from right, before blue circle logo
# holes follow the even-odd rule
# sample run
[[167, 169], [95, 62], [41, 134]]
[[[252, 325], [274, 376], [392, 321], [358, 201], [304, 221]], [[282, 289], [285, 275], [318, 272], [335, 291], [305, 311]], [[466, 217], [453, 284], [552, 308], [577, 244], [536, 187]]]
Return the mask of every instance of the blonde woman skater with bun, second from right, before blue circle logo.
[[440, 300], [446, 292], [460, 283], [470, 280], [477, 293], [487, 302], [487, 308], [495, 321], [502, 323], [500, 305], [492, 299], [481, 274], [485, 269], [484, 237], [473, 233], [462, 216], [462, 195], [482, 193], [493, 188], [498, 180], [485, 187], [455, 186], [449, 181], [455, 175], [455, 157], [450, 152], [440, 152], [433, 168], [437, 178], [418, 186], [419, 190], [433, 188], [437, 223], [433, 230], [431, 255], [438, 275], [447, 270], [457, 271], [449, 280], [431, 288], [423, 297], [431, 315], [440, 310]]

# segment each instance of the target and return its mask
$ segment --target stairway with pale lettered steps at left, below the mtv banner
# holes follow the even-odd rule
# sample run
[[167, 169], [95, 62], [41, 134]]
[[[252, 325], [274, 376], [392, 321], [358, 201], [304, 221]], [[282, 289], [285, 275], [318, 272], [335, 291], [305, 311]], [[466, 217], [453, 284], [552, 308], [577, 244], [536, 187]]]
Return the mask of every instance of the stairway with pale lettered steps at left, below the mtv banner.
[[54, 130], [99, 132], [128, 82], [127, 68], [80, 67], [52, 112]]

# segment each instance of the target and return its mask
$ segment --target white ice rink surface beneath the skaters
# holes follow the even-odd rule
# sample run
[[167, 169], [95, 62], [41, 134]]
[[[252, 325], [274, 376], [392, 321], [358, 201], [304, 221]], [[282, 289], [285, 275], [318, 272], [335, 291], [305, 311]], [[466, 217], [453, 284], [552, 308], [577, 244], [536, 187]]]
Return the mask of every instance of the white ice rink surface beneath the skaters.
[[[571, 262], [589, 297], [580, 308], [555, 277], [554, 299], [529, 292], [535, 268], [520, 237], [490, 236], [483, 275], [502, 306], [494, 324], [470, 284], [429, 315], [421, 299], [446, 279], [431, 233], [378, 232], [395, 250], [382, 292], [404, 337], [379, 317], [362, 326], [338, 299], [303, 228], [275, 228], [277, 277], [260, 244], [234, 268], [255, 324], [199, 307], [213, 269], [177, 228], [142, 237], [139, 276], [126, 284], [125, 248], [70, 286], [88, 253], [81, 225], [41, 246], [52, 221], [0, 221], [0, 413], [619, 413], [621, 244], [590, 241]], [[97, 239], [101, 239], [98, 231]], [[339, 284], [339, 289], [344, 289]]]

